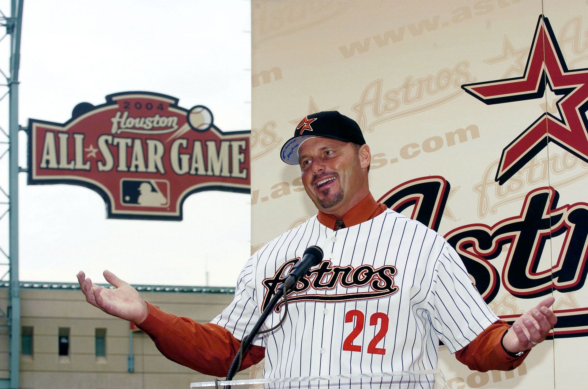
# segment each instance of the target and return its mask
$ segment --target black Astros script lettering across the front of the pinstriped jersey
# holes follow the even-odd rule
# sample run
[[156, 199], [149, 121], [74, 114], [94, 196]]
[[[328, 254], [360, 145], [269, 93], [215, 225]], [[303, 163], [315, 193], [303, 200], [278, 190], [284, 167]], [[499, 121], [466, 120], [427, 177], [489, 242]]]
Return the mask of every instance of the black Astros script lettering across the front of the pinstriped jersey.
[[[276, 288], [283, 283], [283, 278], [288, 274], [286, 269], [290, 269], [300, 259], [290, 259], [282, 264], [273, 277], [264, 279], [263, 286], [266, 288], [265, 297], [263, 298], [262, 307], [268, 305], [269, 300], [275, 294]], [[320, 301], [322, 303], [338, 303], [340, 301], [361, 301], [370, 299], [380, 299], [382, 297], [392, 296], [398, 291], [394, 284], [396, 276], [396, 267], [391, 265], [380, 266], [377, 269], [368, 264], [358, 267], [336, 266], [331, 261], [322, 261], [319, 266], [310, 269], [305, 277], [302, 277], [288, 293], [288, 302], [295, 303], [300, 301]], [[344, 288], [370, 286], [368, 291], [358, 291], [354, 293], [341, 294], [318, 294], [305, 293], [311, 287], [314, 290], [332, 290], [337, 286]], [[293, 296], [290, 296], [293, 295]], [[298, 296], [294, 296], [298, 295]], [[283, 300], [276, 305], [276, 311], [280, 311]]]

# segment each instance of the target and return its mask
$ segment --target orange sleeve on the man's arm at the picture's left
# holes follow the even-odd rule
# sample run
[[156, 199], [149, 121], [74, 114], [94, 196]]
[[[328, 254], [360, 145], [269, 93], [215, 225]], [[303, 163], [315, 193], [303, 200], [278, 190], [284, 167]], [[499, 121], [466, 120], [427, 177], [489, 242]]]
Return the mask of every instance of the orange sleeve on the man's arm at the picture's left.
[[[225, 377], [241, 343], [233, 334], [216, 324], [200, 324], [191, 318], [166, 313], [147, 303], [149, 316], [139, 327], [155, 342], [169, 360], [202, 374]], [[240, 370], [258, 363], [265, 348], [251, 346]]]

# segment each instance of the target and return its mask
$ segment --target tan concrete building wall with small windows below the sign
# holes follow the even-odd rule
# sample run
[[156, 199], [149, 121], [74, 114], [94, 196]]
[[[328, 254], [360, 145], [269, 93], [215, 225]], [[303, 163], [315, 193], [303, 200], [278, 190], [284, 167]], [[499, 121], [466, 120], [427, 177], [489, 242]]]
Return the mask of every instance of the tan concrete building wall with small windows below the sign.
[[[8, 289], [0, 289], [6, 311]], [[178, 316], [207, 323], [232, 300], [231, 293], [143, 292], [143, 299]], [[135, 371], [129, 373], [128, 321], [86, 303], [79, 289], [21, 289], [22, 327], [33, 328], [32, 356], [21, 354], [21, 388], [189, 388], [214, 377], [163, 357], [141, 331], [133, 333]], [[58, 355], [59, 328], [69, 328], [69, 356]], [[105, 357], [95, 355], [96, 328], [106, 328]], [[8, 378], [8, 330], [0, 328], [0, 378]], [[19, 340], [20, 342], [21, 340]], [[239, 379], [248, 378], [239, 373]]]

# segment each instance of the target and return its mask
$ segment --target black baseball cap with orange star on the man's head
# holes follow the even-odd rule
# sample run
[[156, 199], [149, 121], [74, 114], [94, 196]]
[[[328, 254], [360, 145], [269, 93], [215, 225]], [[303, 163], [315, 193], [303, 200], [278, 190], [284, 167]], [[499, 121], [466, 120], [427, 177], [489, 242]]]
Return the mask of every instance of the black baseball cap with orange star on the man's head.
[[341, 115], [336, 110], [317, 112], [302, 119], [294, 130], [294, 136], [284, 143], [280, 152], [283, 162], [288, 165], [298, 165], [298, 147], [306, 139], [316, 136], [358, 145], [366, 144], [362, 130], [355, 120]]

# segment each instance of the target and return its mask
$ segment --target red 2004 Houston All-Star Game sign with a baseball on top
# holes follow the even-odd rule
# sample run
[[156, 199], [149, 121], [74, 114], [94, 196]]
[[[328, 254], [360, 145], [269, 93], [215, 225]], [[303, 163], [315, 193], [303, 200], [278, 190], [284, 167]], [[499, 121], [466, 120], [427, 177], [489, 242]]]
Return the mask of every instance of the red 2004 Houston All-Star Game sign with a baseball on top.
[[152, 92], [78, 104], [65, 123], [29, 120], [29, 184], [98, 192], [108, 217], [182, 220], [201, 190], [250, 192], [249, 131], [224, 133], [211, 111]]

